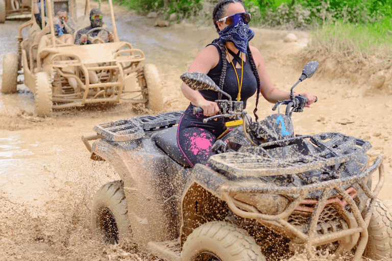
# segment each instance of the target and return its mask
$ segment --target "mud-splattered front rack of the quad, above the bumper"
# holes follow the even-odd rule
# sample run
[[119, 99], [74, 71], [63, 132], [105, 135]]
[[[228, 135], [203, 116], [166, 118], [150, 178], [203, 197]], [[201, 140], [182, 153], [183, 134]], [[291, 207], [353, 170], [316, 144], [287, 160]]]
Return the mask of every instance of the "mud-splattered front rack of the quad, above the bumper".
[[[306, 153], [298, 153], [300, 148], [296, 146], [297, 143], [307, 144]], [[282, 146], [278, 155], [278, 152], [272, 154], [265, 149], [277, 145]], [[371, 147], [368, 141], [362, 139], [340, 133], [323, 133], [246, 146], [238, 152], [215, 154], [208, 160], [208, 165], [237, 177], [292, 175], [350, 162]]]

